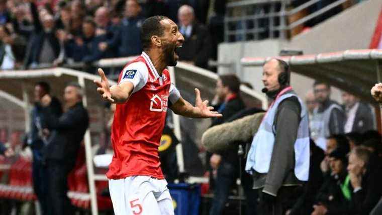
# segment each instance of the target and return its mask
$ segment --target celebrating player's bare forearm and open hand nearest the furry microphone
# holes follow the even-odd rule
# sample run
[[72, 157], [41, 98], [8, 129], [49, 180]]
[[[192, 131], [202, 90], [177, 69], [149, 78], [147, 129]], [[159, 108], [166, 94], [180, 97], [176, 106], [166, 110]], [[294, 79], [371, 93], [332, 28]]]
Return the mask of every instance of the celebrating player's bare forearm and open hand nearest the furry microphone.
[[214, 107], [208, 106], [208, 100], [202, 102], [200, 91], [195, 89], [196, 99], [195, 106], [179, 98], [172, 106], [171, 110], [179, 115], [190, 118], [210, 118], [210, 117], [222, 117], [223, 115], [214, 111]]

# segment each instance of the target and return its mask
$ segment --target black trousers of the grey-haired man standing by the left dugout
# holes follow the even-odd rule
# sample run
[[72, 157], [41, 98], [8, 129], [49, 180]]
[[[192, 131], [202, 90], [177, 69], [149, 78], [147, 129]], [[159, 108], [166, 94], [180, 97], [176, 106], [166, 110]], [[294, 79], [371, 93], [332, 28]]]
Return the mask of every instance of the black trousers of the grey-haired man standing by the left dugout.
[[74, 163], [63, 160], [47, 160], [48, 196], [53, 215], [73, 214], [73, 206], [67, 196], [67, 178]]

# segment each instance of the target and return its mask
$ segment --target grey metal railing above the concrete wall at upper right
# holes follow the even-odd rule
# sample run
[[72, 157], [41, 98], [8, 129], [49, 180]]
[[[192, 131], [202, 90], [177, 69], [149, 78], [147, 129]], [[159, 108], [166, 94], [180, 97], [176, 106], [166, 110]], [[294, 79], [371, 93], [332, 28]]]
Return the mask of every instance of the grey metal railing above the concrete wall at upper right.
[[288, 10], [292, 3], [291, 0], [244, 0], [228, 3], [224, 18], [224, 40], [230, 42], [268, 38], [287, 39], [289, 32], [294, 28], [322, 16], [346, 2], [353, 2], [351, 0], [332, 1], [305, 17], [288, 22], [289, 17], [321, 1], [310, 0], [291, 10]]

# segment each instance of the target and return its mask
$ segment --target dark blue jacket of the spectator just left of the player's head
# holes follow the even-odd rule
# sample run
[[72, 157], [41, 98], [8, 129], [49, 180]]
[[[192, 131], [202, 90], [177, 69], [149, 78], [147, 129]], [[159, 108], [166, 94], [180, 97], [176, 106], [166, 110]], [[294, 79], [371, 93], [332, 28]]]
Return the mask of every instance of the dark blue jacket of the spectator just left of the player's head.
[[142, 53], [141, 45], [141, 26], [144, 19], [124, 18], [118, 27], [116, 37], [108, 41], [110, 48], [118, 48], [120, 57], [135, 56]]

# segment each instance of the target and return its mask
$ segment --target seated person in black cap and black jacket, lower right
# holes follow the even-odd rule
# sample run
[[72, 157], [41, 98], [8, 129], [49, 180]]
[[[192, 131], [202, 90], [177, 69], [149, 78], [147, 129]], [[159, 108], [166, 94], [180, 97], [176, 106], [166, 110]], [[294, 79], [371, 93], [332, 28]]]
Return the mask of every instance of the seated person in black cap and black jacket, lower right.
[[338, 147], [329, 154], [332, 174], [321, 186], [312, 215], [347, 214], [352, 197], [350, 176], [346, 171], [349, 148]]

